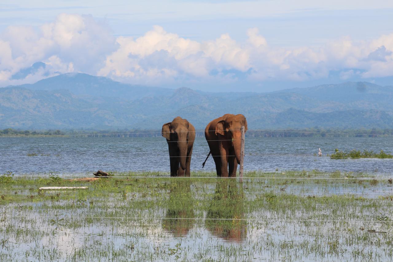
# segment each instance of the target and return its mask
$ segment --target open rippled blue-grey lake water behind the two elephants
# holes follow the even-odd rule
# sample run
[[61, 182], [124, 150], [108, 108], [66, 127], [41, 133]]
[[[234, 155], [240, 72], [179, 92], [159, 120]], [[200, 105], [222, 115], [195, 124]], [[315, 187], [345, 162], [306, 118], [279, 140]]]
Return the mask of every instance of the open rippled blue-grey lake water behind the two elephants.
[[[318, 157], [318, 148], [323, 156]], [[391, 174], [393, 159], [330, 159], [342, 151], [393, 151], [393, 138], [246, 138], [244, 169], [320, 170]], [[202, 170], [209, 152], [203, 137], [196, 138], [191, 171]], [[28, 154], [36, 153], [36, 156]], [[0, 137], [0, 173], [91, 173], [105, 171], [169, 172], [167, 142], [162, 137]], [[203, 169], [214, 171], [210, 157]]]

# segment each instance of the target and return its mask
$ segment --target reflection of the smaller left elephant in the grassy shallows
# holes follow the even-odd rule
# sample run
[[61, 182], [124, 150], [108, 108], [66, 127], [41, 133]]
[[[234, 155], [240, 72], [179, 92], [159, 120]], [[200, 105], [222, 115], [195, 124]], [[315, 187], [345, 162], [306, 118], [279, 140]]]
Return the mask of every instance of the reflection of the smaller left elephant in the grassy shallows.
[[[172, 181], [169, 205], [162, 226], [174, 236], [185, 236], [194, 226], [195, 218], [191, 181]], [[187, 201], [184, 201], [187, 199]]]

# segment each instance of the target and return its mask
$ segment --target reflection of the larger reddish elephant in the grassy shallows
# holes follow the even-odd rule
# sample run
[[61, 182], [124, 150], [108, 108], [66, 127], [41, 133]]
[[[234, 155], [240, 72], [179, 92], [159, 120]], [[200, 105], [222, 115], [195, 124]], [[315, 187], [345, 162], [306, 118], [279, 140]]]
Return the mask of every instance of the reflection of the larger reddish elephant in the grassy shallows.
[[[217, 181], [215, 194], [206, 214], [205, 227], [213, 235], [233, 242], [246, 238], [244, 193], [236, 181]], [[222, 220], [215, 220], [215, 219]], [[240, 220], [239, 220], [240, 219]]]

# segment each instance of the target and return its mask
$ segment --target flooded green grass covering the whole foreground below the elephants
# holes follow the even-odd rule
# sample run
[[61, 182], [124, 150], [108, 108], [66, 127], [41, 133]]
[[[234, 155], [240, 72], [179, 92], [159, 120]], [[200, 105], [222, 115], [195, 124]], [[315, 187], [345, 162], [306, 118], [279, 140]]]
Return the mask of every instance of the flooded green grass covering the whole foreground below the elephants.
[[84, 183], [1, 176], [0, 260], [393, 258], [388, 180], [317, 171], [249, 172], [243, 183], [211, 173], [117, 174], [127, 177]]

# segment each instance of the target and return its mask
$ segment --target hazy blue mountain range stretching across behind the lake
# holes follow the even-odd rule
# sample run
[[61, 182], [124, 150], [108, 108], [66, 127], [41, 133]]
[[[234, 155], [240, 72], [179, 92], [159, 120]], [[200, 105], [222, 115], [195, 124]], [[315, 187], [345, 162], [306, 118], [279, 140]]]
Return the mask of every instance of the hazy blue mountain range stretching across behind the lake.
[[176, 116], [204, 129], [225, 113], [250, 129], [393, 128], [393, 87], [346, 82], [269, 93], [202, 92], [68, 73], [0, 88], [0, 129], [160, 129]]

